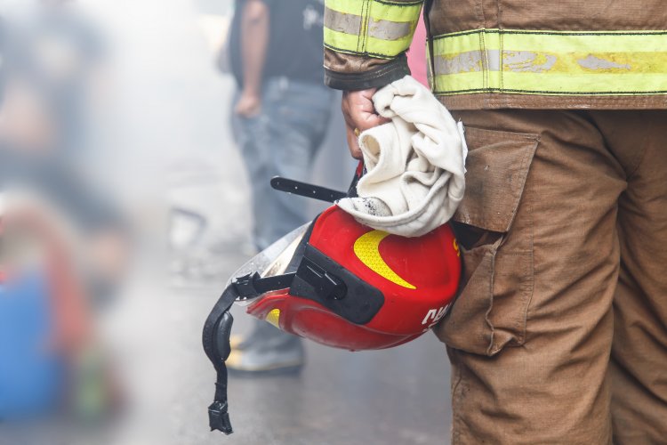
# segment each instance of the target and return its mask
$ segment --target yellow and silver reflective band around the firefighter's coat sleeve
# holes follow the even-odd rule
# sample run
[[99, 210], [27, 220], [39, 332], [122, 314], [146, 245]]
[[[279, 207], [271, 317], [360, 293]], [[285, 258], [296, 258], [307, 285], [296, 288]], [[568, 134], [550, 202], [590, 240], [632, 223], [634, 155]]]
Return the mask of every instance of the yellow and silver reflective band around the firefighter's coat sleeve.
[[410, 46], [422, 0], [327, 0], [325, 46], [390, 59]]

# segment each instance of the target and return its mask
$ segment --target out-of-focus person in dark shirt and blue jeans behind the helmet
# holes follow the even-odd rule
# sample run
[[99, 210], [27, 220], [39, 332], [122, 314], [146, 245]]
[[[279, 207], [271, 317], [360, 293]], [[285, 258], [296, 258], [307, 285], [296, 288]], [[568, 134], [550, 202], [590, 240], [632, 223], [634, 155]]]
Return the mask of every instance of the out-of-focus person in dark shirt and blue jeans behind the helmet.
[[[229, 58], [238, 93], [233, 126], [253, 198], [253, 242], [261, 251], [309, 221], [303, 198], [272, 190], [279, 175], [308, 181], [329, 125], [333, 93], [322, 85], [323, 0], [237, 0]], [[231, 371], [295, 372], [301, 339], [258, 321], [234, 338]]]

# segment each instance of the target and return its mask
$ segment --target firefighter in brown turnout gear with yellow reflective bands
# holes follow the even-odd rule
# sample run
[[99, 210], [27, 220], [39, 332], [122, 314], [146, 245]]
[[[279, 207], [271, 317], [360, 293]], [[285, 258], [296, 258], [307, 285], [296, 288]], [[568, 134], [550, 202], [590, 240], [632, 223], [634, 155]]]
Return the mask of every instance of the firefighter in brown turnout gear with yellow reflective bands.
[[667, 9], [326, 0], [325, 83], [355, 158], [422, 6], [431, 91], [470, 149], [462, 285], [436, 328], [452, 442], [663, 442]]

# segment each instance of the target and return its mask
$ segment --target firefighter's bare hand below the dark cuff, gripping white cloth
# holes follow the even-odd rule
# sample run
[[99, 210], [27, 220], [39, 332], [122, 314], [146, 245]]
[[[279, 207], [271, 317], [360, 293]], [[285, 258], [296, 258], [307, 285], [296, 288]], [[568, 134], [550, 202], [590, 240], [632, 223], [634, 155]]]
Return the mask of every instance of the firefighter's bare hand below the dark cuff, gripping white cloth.
[[344, 91], [342, 93], [342, 116], [345, 117], [348, 147], [350, 147], [352, 158], [362, 158], [358, 142], [359, 133], [390, 121], [390, 119], [375, 112], [372, 98], [376, 90], [376, 88], [371, 88], [369, 90]]

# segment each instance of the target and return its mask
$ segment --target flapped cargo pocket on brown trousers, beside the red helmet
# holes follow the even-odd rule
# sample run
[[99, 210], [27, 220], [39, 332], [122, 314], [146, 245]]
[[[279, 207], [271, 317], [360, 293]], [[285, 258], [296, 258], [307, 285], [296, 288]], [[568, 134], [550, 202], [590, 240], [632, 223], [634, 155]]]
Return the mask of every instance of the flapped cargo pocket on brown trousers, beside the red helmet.
[[[526, 336], [533, 295], [532, 215], [520, 206], [539, 138], [466, 127], [466, 191], [453, 225], [462, 253], [459, 293], [436, 328], [448, 346], [492, 356]], [[521, 208], [521, 227], [514, 227]]]

